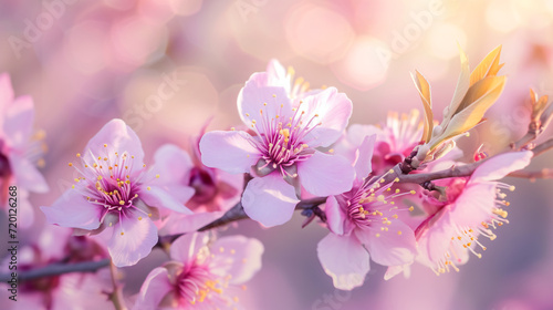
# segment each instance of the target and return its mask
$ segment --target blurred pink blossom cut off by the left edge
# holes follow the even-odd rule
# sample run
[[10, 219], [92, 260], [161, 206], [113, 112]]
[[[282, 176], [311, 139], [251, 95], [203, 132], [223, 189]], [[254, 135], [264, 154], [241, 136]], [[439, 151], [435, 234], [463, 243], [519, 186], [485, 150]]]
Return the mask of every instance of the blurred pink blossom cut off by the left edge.
[[0, 206], [8, 206], [8, 188], [18, 186], [22, 227], [33, 223], [29, 192], [45, 193], [48, 185], [36, 169], [42, 159], [43, 134], [33, 136], [34, 105], [30, 96], [13, 97], [10, 76], [0, 74]]

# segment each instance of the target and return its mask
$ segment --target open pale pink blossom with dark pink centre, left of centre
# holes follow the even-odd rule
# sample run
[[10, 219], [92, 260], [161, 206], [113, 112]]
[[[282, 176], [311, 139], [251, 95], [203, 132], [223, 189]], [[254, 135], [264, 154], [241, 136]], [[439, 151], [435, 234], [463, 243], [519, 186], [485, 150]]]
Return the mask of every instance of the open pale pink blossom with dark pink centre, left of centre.
[[[76, 155], [81, 177], [51, 207], [41, 207], [50, 224], [101, 234], [117, 267], [147, 256], [157, 242], [157, 208], [190, 213], [184, 202], [156, 183], [147, 170], [142, 144], [121, 120], [108, 122]], [[173, 190], [178, 190], [175, 185]]]

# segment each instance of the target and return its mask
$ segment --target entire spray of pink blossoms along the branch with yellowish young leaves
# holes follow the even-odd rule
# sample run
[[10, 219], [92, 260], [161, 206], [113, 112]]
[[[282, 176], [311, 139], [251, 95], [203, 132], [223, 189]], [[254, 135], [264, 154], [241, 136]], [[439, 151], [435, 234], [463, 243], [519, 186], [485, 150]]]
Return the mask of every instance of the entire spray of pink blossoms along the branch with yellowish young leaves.
[[[263, 245], [219, 236], [225, 232], [213, 228], [244, 217], [270, 228], [302, 209], [304, 225], [316, 218], [327, 230], [316, 251], [338, 289], [362, 286], [371, 260], [388, 267], [385, 279], [408, 275], [413, 264], [436, 275], [458, 271], [471, 255], [481, 257], [486, 239], [495, 239], [495, 229], [508, 223], [505, 197], [514, 187], [500, 179], [534, 156], [525, 145], [493, 156], [480, 151], [470, 156], [456, 145], [483, 122], [504, 87], [499, 54], [493, 50], [470, 72], [461, 52], [459, 83], [439, 123], [429, 83], [418, 72], [413, 78], [422, 113], [390, 113], [378, 126], [348, 126], [353, 103], [346, 94], [335, 87], [310, 90], [275, 60], [241, 89], [242, 124], [202, 130], [188, 152], [166, 144], [149, 164], [137, 134], [112, 120], [67, 163], [77, 175], [71, 188], [40, 207], [53, 225], [44, 238], [56, 235], [50, 238], [63, 248], [53, 251], [41, 240], [35, 264], [79, 257], [127, 267], [160, 248], [169, 259], [128, 298], [132, 309], [240, 309], [237, 294], [261, 269]], [[546, 111], [539, 99], [533, 106], [536, 113]], [[0, 76], [0, 116], [4, 206], [8, 185], [23, 193], [48, 186], [35, 168], [32, 101], [13, 99], [7, 75]], [[31, 225], [33, 208], [21, 208]], [[196, 232], [205, 230], [210, 231]], [[33, 302], [52, 309], [77, 298], [63, 290], [66, 282], [91, 288], [88, 299], [115, 299], [117, 286], [105, 285], [106, 275], [73, 276], [31, 281], [25, 290], [33, 293], [42, 285]]]

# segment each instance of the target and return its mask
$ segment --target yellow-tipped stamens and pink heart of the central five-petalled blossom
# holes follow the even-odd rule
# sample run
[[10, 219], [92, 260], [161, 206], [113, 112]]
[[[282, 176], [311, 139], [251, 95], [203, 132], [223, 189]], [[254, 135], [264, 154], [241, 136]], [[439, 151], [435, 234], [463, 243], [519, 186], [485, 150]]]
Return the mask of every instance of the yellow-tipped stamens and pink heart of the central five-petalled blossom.
[[[278, 97], [275, 97], [276, 103]], [[300, 103], [301, 105], [301, 103]], [[269, 113], [260, 110], [261, 125], [252, 120], [252, 128], [260, 141], [255, 141], [255, 147], [262, 153], [258, 170], [274, 170], [280, 167], [283, 175], [286, 175], [284, 167], [305, 161], [314, 153], [309, 146], [307, 134], [321, 125], [319, 115], [314, 114], [305, 120], [305, 111], [293, 108], [293, 115], [286, 115], [289, 111], [283, 111], [284, 105], [279, 104], [278, 114], [270, 118]]]

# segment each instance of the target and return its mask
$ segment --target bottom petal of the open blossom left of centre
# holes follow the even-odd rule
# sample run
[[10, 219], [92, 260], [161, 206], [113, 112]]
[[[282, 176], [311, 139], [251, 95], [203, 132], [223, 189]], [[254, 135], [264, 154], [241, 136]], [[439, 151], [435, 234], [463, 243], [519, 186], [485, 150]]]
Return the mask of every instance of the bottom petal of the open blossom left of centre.
[[107, 250], [115, 266], [125, 267], [148, 256], [156, 244], [156, 225], [142, 213], [127, 210], [115, 225]]

